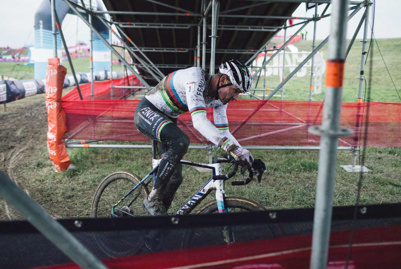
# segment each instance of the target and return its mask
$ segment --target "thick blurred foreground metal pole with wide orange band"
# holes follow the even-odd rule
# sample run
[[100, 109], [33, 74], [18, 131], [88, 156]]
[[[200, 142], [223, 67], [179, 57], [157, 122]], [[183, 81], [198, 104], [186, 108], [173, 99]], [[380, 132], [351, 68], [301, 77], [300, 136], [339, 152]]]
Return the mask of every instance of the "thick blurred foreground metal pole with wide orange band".
[[351, 130], [340, 128], [347, 12], [348, 0], [332, 0], [323, 121], [321, 126], [309, 127], [309, 132], [320, 135], [318, 181], [316, 185], [312, 254], [310, 257], [311, 269], [323, 269], [327, 265], [338, 137], [352, 134]]

